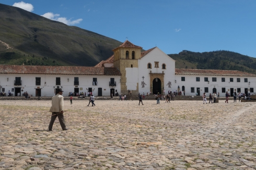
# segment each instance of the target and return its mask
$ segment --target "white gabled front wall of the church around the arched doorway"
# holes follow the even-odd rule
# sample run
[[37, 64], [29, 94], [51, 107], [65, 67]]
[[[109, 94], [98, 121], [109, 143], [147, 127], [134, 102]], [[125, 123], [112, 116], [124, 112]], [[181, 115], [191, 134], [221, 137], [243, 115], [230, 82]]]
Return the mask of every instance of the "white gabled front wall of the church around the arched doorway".
[[[155, 68], [155, 61], [159, 62], [159, 67]], [[152, 69], [147, 68], [147, 64], [151, 63]], [[162, 69], [162, 64], [166, 64], [166, 69]], [[162, 52], [158, 47], [154, 48], [150, 51], [146, 56], [142, 59], [138, 60], [138, 85], [139, 85], [139, 93], [149, 93], [150, 91], [150, 71], [152, 73], [162, 73], [164, 71], [164, 89], [166, 94], [168, 94], [168, 90], [173, 90], [175, 88], [175, 60], [167, 56], [164, 52]], [[144, 80], [143, 77], [144, 76]], [[146, 83], [145, 87], [142, 88], [142, 81]], [[168, 82], [171, 82], [171, 87], [167, 85]]]

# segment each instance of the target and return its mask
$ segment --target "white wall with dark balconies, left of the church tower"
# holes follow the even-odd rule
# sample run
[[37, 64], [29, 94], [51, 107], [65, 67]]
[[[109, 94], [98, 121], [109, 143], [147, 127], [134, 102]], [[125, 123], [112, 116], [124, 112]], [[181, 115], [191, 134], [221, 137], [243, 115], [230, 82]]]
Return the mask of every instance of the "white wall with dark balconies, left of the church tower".
[[[8, 77], [8, 81], [7, 81]], [[21, 86], [15, 86], [14, 81], [15, 77], [21, 77], [22, 84]], [[41, 85], [36, 86], [36, 77], [41, 77]], [[54, 96], [54, 89], [57, 88], [56, 77], [61, 77], [61, 85], [60, 88], [64, 90], [63, 96], [68, 96], [70, 91], [74, 92], [74, 77], [79, 77], [79, 93], [86, 92], [87, 89], [91, 87], [92, 94], [94, 96], [98, 96], [98, 88], [102, 88], [102, 96], [110, 96], [110, 87], [109, 82], [110, 78], [114, 78], [116, 82], [115, 89], [118, 89], [118, 93], [120, 93], [120, 77], [121, 76], [112, 76], [112, 75], [55, 75], [55, 74], [0, 74], [0, 85], [1, 91], [2, 88], [5, 88], [5, 93], [8, 90], [11, 91], [11, 88], [21, 87], [23, 90], [21, 93], [27, 91], [30, 95], [36, 96], [37, 87], [41, 88], [41, 96]], [[92, 85], [92, 78], [97, 78], [97, 85]], [[69, 79], [69, 81], [67, 81]], [[83, 90], [80, 90], [83, 88]], [[87, 89], [86, 89], [87, 88]], [[106, 90], [104, 90], [106, 89]], [[14, 94], [14, 91], [11, 91]]]

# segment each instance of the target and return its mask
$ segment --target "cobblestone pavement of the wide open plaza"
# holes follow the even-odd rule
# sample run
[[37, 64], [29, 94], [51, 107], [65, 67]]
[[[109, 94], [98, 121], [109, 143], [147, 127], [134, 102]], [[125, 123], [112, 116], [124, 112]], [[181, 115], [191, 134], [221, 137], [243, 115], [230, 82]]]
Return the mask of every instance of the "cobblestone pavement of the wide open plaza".
[[255, 169], [254, 102], [1, 101], [2, 169]]

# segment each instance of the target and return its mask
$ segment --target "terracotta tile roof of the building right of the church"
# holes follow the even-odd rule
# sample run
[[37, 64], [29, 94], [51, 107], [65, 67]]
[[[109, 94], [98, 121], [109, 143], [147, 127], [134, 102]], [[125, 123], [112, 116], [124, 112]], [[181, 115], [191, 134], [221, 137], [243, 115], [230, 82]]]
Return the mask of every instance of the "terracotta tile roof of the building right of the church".
[[199, 70], [199, 69], [175, 69], [175, 74], [185, 75], [222, 75], [222, 76], [256, 76], [238, 70]]

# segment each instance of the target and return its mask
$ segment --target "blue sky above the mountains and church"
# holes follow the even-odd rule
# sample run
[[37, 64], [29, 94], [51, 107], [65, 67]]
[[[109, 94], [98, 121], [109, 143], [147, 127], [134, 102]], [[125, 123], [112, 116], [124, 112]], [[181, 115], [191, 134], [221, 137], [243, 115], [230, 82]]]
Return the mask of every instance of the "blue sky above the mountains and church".
[[[256, 57], [256, 1], [1, 0], [34, 14], [166, 54], [229, 50]], [[51, 12], [51, 13], [48, 13]], [[48, 13], [48, 14], [47, 14]]]

